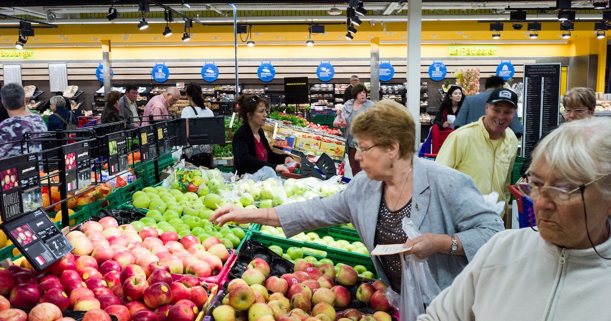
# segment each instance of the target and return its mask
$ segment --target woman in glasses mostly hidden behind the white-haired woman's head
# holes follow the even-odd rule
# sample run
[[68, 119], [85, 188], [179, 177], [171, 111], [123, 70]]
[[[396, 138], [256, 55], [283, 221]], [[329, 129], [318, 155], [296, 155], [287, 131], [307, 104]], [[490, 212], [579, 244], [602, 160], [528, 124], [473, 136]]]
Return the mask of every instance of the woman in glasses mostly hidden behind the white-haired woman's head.
[[[562, 114], [565, 117], [566, 122], [590, 118], [594, 116], [594, 110], [596, 109], [596, 93], [591, 88], [573, 87], [568, 92], [565, 92], [565, 95], [563, 95], [562, 105], [565, 106], [565, 110]], [[541, 139], [547, 136], [547, 134], [551, 133], [555, 128], [556, 127], [551, 128], [543, 133], [543, 135], [541, 135]], [[520, 168], [520, 174], [524, 175], [527, 169], [529, 169], [531, 161], [532, 155], [529, 155], [529, 157], [526, 158], [522, 164], [522, 168]]]

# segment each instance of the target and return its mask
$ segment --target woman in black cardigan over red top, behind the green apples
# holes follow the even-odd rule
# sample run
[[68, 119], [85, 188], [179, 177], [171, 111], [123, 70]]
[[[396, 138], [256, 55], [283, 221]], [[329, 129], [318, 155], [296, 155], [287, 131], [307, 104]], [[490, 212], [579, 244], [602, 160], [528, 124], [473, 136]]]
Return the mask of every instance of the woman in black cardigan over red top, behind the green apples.
[[268, 101], [258, 95], [241, 95], [237, 103], [240, 106], [238, 113], [244, 120], [244, 125], [233, 135], [233, 168], [238, 175], [253, 174], [263, 166], [269, 166], [276, 172], [288, 172], [285, 165], [292, 163], [293, 158], [272, 152], [263, 133]]

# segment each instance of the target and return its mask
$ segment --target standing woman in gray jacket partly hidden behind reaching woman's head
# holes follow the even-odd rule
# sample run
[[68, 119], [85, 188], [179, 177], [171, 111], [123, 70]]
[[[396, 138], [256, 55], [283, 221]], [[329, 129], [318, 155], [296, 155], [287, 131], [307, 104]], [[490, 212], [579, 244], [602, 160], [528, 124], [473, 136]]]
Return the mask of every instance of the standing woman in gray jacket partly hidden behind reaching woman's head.
[[350, 134], [350, 124], [354, 119], [354, 116], [365, 111], [373, 106], [373, 101], [367, 99], [367, 87], [364, 84], [356, 84], [352, 87], [352, 97], [344, 103], [342, 114], [346, 120], [346, 129], [344, 130], [344, 137], [346, 138], [346, 147], [348, 147], [348, 161], [350, 162], [350, 168], [352, 174], [356, 175], [362, 169], [358, 161], [354, 159], [356, 154], [356, 146], [353, 142], [354, 137]]

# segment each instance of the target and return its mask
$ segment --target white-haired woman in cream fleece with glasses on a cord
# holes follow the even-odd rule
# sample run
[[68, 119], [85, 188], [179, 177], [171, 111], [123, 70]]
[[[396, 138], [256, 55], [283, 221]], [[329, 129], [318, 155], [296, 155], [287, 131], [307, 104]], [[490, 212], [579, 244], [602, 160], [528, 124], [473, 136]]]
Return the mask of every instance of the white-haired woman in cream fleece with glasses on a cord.
[[609, 320], [611, 119], [558, 127], [533, 152], [536, 229], [501, 232], [419, 320]]

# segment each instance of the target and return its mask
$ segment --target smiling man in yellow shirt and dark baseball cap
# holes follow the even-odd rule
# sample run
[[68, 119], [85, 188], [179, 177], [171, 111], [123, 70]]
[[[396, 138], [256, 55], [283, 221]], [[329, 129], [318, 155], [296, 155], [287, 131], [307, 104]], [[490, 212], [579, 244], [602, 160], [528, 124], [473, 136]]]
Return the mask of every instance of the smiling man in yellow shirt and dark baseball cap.
[[435, 161], [472, 177], [482, 194], [496, 191], [499, 201], [508, 202], [511, 169], [518, 152], [518, 139], [508, 126], [517, 108], [516, 93], [505, 88], [494, 90], [485, 116], [453, 131]]

